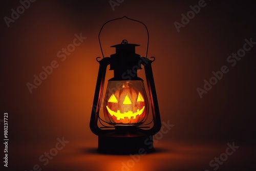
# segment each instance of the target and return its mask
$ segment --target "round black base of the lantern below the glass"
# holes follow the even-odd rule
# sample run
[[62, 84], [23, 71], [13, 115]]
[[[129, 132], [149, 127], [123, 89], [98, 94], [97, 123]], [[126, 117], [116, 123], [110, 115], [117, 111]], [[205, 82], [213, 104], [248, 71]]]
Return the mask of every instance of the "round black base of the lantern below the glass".
[[[127, 127], [133, 131], [127, 130]], [[123, 155], [144, 155], [154, 152], [153, 136], [139, 131], [134, 132], [134, 128], [135, 126], [116, 126], [114, 132], [99, 135], [97, 151], [99, 153]]]

